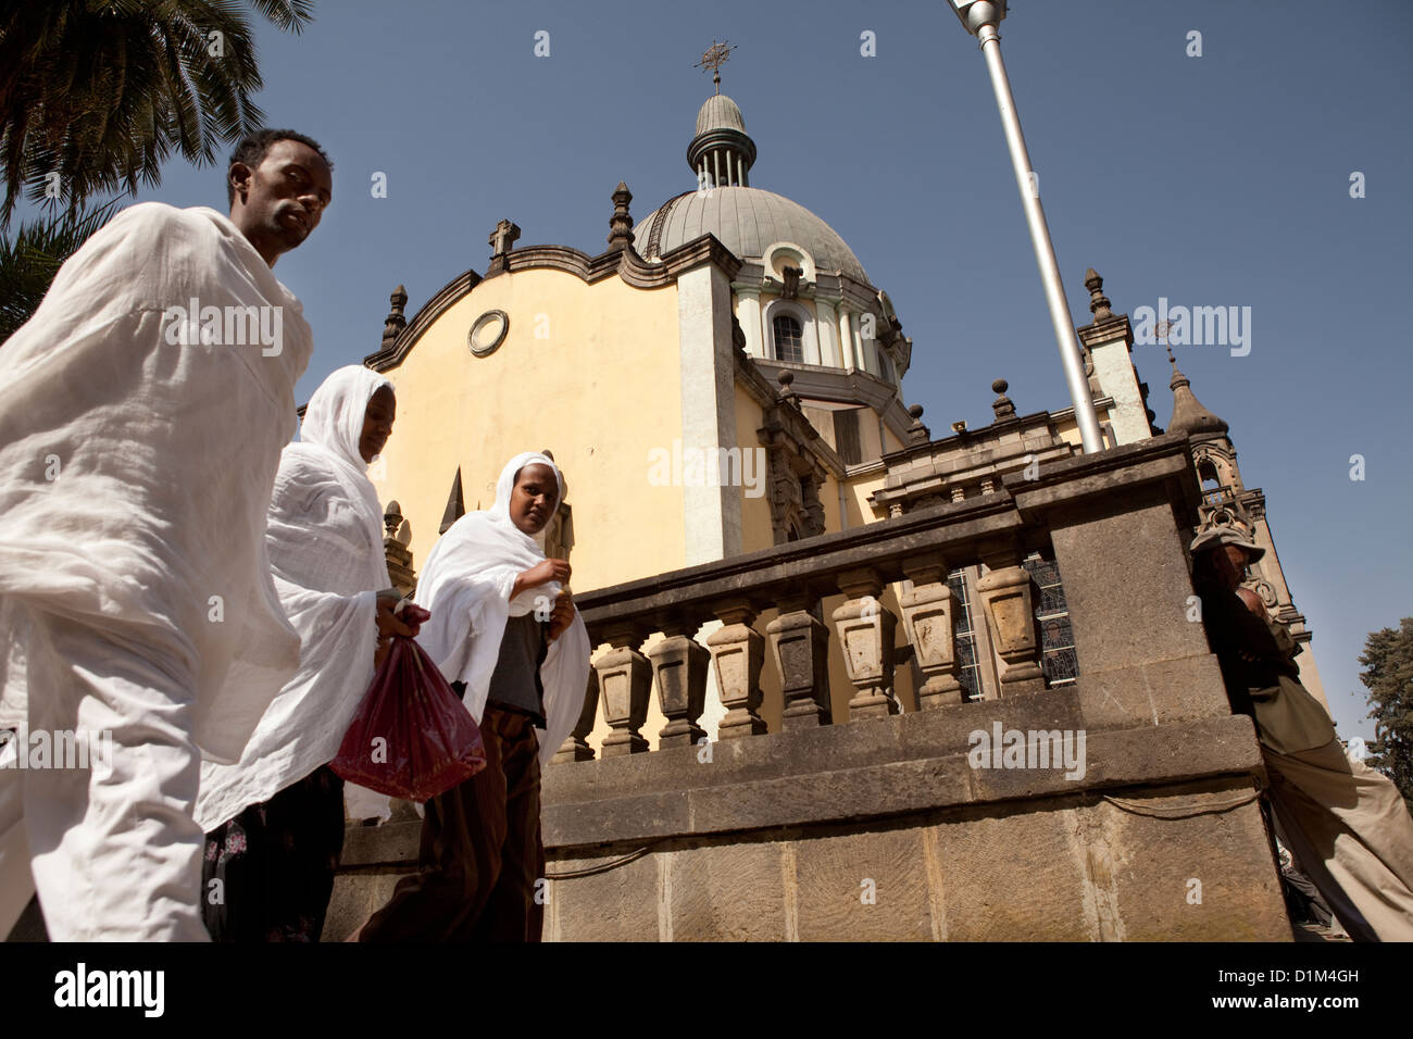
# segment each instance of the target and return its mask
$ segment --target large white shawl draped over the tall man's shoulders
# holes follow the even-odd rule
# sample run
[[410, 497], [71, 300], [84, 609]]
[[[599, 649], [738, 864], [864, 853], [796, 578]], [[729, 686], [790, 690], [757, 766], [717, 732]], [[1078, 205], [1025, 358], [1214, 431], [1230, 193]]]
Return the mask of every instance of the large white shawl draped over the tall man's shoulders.
[[[182, 342], [171, 308], [192, 301], [278, 318], [278, 349], [229, 322]], [[225, 761], [300, 659], [264, 529], [311, 352], [300, 301], [226, 216], [158, 202], [95, 233], [0, 346], [0, 599], [90, 626], [73, 667], [102, 676], [105, 639], [138, 647]], [[27, 717], [23, 671], [3, 679], [0, 725]]]

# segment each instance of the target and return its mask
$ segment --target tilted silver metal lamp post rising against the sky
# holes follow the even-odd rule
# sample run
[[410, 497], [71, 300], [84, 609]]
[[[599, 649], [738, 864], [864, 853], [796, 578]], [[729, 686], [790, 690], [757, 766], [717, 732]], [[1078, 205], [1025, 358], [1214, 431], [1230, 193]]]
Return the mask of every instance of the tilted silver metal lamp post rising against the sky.
[[1064, 362], [1064, 377], [1074, 400], [1074, 418], [1080, 425], [1080, 441], [1084, 452], [1104, 450], [1099, 434], [1099, 417], [1094, 411], [1089, 396], [1089, 382], [1084, 377], [1084, 356], [1080, 339], [1070, 318], [1070, 303], [1065, 300], [1064, 284], [1060, 281], [1060, 264], [1056, 262], [1056, 247], [1050, 240], [1046, 212], [1040, 208], [1040, 189], [1034, 171], [1030, 168], [1030, 154], [1026, 139], [1020, 133], [1020, 117], [1016, 115], [1016, 99], [1010, 93], [1010, 79], [1000, 59], [1000, 33], [996, 25], [1006, 17], [1006, 0], [950, 0], [957, 17], [966, 31], [981, 40], [981, 52], [986, 58], [991, 85], [996, 92], [996, 107], [1000, 109], [1000, 123], [1006, 130], [1006, 146], [1010, 148], [1010, 164], [1016, 170], [1016, 187], [1020, 188], [1020, 204], [1030, 225], [1030, 243], [1036, 249], [1036, 263], [1040, 266], [1040, 280], [1046, 287], [1046, 303], [1050, 305], [1050, 321], [1054, 324], [1056, 342], [1060, 346], [1060, 360]]

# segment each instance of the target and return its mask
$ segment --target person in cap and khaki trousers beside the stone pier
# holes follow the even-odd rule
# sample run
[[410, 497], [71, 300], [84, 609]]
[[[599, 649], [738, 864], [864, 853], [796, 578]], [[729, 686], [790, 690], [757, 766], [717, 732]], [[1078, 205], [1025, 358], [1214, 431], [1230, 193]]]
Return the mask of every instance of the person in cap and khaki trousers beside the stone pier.
[[1349, 936], [1413, 941], [1413, 817], [1393, 782], [1349, 761], [1299, 681], [1300, 647], [1241, 582], [1265, 550], [1234, 527], [1191, 544], [1193, 587], [1232, 710], [1251, 715], [1267, 796], [1300, 868]]

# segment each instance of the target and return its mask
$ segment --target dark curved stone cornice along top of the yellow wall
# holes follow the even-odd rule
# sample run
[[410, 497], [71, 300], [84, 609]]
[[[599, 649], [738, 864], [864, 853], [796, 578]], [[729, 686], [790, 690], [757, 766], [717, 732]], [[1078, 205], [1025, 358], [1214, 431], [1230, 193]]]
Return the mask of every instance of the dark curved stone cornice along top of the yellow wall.
[[612, 274], [617, 274], [625, 284], [633, 288], [663, 288], [674, 284], [678, 277], [690, 270], [711, 263], [721, 269], [726, 278], [735, 278], [740, 270], [740, 260], [721, 243], [715, 235], [684, 242], [673, 252], [663, 256], [658, 263], [649, 263], [637, 252], [629, 247], [609, 249], [598, 256], [589, 256], [571, 246], [528, 246], [506, 253], [504, 264], [500, 270], [489, 273], [485, 278], [473, 270], [461, 274], [455, 281], [447, 284], [437, 295], [417, 311], [397, 339], [384, 349], [369, 353], [363, 363], [374, 372], [386, 372], [397, 368], [407, 359], [408, 351], [421, 338], [437, 318], [439, 318], [455, 303], [468, 295], [482, 281], [510, 274], [521, 270], [562, 270], [567, 274], [577, 274], [588, 284], [602, 281]]

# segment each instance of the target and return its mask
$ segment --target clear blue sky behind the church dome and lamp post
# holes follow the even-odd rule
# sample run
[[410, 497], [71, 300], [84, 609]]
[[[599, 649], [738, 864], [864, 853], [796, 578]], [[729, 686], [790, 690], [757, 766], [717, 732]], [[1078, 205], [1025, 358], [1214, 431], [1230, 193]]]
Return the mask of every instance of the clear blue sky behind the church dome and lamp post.
[[[694, 187], [712, 85], [692, 65], [714, 38], [738, 45], [722, 92], [759, 150], [752, 185], [827, 219], [890, 294], [914, 344], [904, 397], [934, 434], [988, 423], [996, 377], [1023, 413], [1064, 407], [983, 61], [940, 0], [324, 0], [300, 37], [261, 25], [259, 103], [336, 167], [324, 223], [278, 264], [318, 344], [300, 399], [377, 348], [394, 284], [411, 317], [483, 271], [497, 219], [521, 246], [593, 254], [619, 180], [634, 219]], [[1251, 307], [1249, 355], [1178, 362], [1266, 492], [1341, 735], [1372, 736], [1356, 656], [1413, 615], [1413, 6], [1020, 3], [1002, 38], [1075, 322], [1091, 266], [1116, 312]], [[222, 171], [172, 163], [140, 198], [223, 205]], [[1135, 360], [1166, 424], [1161, 348]]]

